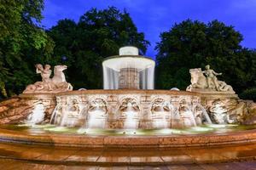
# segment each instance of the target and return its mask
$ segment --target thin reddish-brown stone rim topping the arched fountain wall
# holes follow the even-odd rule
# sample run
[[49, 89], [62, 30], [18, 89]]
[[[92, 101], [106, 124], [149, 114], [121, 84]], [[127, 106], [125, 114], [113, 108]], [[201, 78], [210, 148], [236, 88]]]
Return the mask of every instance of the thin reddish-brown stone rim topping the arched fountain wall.
[[189, 91], [174, 91], [174, 90], [160, 90], [160, 89], [90, 89], [90, 90], [73, 90], [68, 92], [61, 92], [56, 94], [61, 95], [79, 95], [79, 94], [156, 94], [156, 95], [189, 95], [200, 97], [201, 94]]

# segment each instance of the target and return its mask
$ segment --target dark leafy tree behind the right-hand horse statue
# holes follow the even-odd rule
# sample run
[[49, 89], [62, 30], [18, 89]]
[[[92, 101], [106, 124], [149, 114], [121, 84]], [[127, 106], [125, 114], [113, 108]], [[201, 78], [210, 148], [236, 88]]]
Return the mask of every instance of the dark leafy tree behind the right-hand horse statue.
[[242, 36], [233, 26], [218, 20], [208, 24], [184, 20], [161, 33], [160, 39], [156, 46], [158, 88], [185, 89], [189, 85], [189, 69], [204, 69], [207, 64], [223, 72], [220, 79], [238, 93], [255, 87], [255, 51], [241, 47]]

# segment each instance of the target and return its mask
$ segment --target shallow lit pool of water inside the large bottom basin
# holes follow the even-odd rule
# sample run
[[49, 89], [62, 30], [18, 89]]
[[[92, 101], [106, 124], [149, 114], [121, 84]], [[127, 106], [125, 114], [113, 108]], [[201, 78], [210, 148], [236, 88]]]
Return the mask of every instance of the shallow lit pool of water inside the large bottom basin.
[[[241, 132], [246, 130], [256, 129], [255, 125], [242, 126], [236, 124], [209, 124], [201, 125], [198, 127], [187, 127], [187, 128], [163, 128], [163, 129], [136, 129], [133, 131], [125, 129], [82, 129], [79, 127], [57, 127], [54, 125], [1, 125], [1, 128], [13, 130], [17, 132], [26, 133], [61, 133], [61, 134], [84, 134], [84, 135], [137, 135], [137, 136], [148, 136], [148, 135], [190, 135], [190, 134], [204, 134], [204, 133], [230, 133], [230, 132]], [[124, 131], [126, 133], [124, 133]], [[85, 133], [86, 132], [86, 133]], [[129, 133], [131, 132], [131, 133]]]

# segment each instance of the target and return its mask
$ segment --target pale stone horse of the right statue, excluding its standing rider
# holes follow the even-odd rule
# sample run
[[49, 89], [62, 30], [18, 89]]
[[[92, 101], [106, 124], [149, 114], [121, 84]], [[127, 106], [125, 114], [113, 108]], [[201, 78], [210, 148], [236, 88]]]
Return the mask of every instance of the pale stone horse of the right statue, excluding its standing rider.
[[187, 88], [187, 91], [192, 91], [193, 89], [206, 89], [221, 92], [234, 92], [233, 88], [230, 85], [227, 85], [226, 82], [218, 81], [218, 88], [216, 89], [213, 82], [210, 82], [209, 86], [207, 84], [207, 77], [201, 71], [201, 68], [190, 69], [189, 73], [191, 75], [191, 84]]

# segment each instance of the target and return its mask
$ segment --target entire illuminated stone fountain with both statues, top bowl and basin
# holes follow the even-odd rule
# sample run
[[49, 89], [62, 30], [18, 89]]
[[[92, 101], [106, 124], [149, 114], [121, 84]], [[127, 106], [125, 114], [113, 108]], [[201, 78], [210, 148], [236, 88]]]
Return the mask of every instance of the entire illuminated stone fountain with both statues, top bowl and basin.
[[[137, 48], [120, 48], [119, 55], [102, 62], [102, 90], [86, 90], [86, 87], [73, 90], [63, 73], [66, 65], [56, 65], [52, 78], [49, 65], [36, 65], [42, 82], [28, 85], [19, 97], [3, 101], [0, 122], [33, 129], [40, 135], [47, 132], [67, 134], [54, 134], [50, 141], [45, 140], [76, 146], [236, 143], [232, 136], [235, 132], [223, 139], [215, 138], [215, 133], [233, 132], [233, 127], [256, 122], [255, 103], [239, 99], [230, 85], [218, 80], [221, 73], [213, 71], [210, 65], [205, 71], [201, 68], [189, 71], [191, 85], [186, 91], [177, 88], [155, 90], [154, 65], [154, 60], [139, 55]], [[23, 141], [31, 140], [27, 132], [31, 131], [20, 137]], [[207, 139], [201, 138], [199, 133], [207, 132], [214, 133]], [[183, 138], [173, 135], [190, 133], [197, 135]], [[75, 135], [73, 139], [68, 138], [71, 134]], [[94, 135], [103, 137], [95, 138]], [[138, 138], [142, 135], [147, 139]], [[254, 136], [256, 139], [256, 135], [252, 135], [252, 139], [237, 138], [237, 141], [250, 141]], [[66, 137], [73, 140], [73, 144]], [[33, 136], [33, 142], [40, 143], [44, 135], [35, 138], [37, 135]]]

